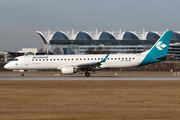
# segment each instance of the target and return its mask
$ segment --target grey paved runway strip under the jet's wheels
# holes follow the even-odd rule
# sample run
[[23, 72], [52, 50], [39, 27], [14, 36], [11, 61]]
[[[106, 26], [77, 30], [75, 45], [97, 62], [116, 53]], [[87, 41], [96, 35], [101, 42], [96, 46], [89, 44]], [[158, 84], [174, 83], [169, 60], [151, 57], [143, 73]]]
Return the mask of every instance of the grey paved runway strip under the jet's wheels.
[[25, 74], [21, 77], [20, 74], [0, 74], [0, 80], [180, 80], [180, 76], [91, 76], [84, 75], [59, 75], [59, 74]]

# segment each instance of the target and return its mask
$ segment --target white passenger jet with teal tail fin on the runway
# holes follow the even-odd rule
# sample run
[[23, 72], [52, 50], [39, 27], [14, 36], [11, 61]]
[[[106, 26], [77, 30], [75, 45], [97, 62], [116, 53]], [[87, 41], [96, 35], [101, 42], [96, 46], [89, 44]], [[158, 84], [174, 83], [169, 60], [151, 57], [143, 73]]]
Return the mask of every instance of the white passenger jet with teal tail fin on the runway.
[[19, 56], [7, 63], [4, 68], [19, 70], [61, 70], [62, 74], [85, 71], [95, 72], [105, 68], [130, 68], [143, 66], [167, 59], [172, 31], [166, 31], [154, 46], [140, 54], [91, 54], [91, 55], [27, 55]]

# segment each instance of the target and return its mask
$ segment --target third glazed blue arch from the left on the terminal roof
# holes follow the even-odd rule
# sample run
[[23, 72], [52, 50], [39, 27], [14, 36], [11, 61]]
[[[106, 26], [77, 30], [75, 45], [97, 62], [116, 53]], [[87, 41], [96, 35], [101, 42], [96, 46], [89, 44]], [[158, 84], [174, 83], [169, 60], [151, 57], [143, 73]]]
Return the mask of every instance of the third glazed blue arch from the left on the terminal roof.
[[116, 40], [116, 38], [110, 32], [104, 31], [100, 34], [99, 40]]

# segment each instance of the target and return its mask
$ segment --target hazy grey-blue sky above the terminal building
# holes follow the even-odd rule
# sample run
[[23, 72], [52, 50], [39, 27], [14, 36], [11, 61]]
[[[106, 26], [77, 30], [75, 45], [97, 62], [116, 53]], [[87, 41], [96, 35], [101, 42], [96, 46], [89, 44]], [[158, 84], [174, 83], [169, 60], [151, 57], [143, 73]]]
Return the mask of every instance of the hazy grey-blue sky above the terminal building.
[[180, 31], [179, 0], [0, 0], [0, 50], [44, 48], [35, 31]]

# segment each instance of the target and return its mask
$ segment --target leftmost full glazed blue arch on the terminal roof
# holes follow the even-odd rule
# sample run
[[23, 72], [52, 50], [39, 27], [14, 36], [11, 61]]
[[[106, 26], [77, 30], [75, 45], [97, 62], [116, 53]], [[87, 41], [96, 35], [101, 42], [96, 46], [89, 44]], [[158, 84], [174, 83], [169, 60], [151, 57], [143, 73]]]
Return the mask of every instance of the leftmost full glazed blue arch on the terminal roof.
[[52, 40], [69, 40], [68, 36], [64, 32], [56, 32]]

